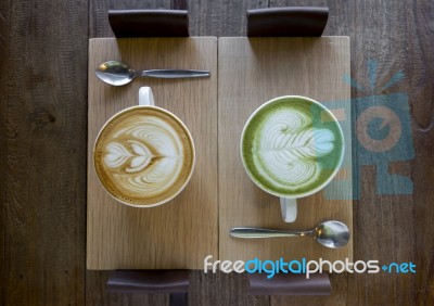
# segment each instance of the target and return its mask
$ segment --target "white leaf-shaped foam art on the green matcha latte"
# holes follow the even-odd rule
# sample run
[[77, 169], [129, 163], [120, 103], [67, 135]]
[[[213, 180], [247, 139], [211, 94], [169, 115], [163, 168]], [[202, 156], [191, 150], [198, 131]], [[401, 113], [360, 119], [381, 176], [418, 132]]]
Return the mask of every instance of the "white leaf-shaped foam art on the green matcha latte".
[[277, 112], [264, 123], [264, 136], [253, 146], [264, 177], [288, 189], [305, 188], [318, 179], [321, 165], [316, 158], [333, 150], [334, 136], [310, 125], [308, 116], [288, 111]]

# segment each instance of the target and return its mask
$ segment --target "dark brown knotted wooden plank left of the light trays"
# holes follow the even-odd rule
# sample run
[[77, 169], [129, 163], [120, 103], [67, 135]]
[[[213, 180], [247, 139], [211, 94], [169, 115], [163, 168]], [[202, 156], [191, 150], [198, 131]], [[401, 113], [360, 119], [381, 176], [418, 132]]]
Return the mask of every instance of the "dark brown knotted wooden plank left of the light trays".
[[87, 3], [1, 4], [4, 305], [85, 303]]

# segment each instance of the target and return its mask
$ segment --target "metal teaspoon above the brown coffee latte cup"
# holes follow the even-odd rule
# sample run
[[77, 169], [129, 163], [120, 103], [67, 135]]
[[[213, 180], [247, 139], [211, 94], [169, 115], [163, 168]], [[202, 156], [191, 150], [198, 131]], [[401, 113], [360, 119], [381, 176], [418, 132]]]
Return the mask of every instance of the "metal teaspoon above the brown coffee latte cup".
[[130, 82], [138, 76], [156, 78], [190, 78], [208, 77], [208, 71], [190, 69], [152, 69], [136, 72], [126, 64], [117, 61], [102, 63], [95, 71], [97, 76], [106, 84], [122, 86]]

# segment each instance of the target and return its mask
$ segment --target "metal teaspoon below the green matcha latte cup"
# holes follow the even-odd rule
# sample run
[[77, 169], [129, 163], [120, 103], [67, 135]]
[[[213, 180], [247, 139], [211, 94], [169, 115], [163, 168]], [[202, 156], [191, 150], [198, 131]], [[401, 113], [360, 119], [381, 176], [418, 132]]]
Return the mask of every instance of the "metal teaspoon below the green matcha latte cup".
[[258, 228], [233, 228], [230, 230], [230, 235], [235, 238], [273, 238], [273, 237], [298, 237], [310, 235], [319, 244], [337, 248], [345, 246], [349, 241], [348, 227], [340, 221], [324, 221], [318, 225], [315, 229], [307, 231], [283, 231], [283, 230], [269, 230]]

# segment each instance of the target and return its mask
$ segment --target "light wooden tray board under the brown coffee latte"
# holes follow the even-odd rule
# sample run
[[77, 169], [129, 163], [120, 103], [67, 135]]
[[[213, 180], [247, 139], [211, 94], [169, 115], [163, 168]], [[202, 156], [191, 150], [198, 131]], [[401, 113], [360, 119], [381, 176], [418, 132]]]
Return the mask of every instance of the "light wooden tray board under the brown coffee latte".
[[[217, 39], [92, 39], [89, 54], [87, 267], [201, 269], [206, 255], [218, 254]], [[212, 76], [139, 78], [125, 87], [112, 87], [94, 75], [94, 67], [107, 60], [138, 69], [206, 69]], [[98, 181], [92, 158], [103, 124], [118, 111], [137, 105], [142, 86], [152, 88], [156, 105], [187, 125], [196, 151], [187, 188], [169, 203], [152, 208], [129, 207], [112, 199]]]

